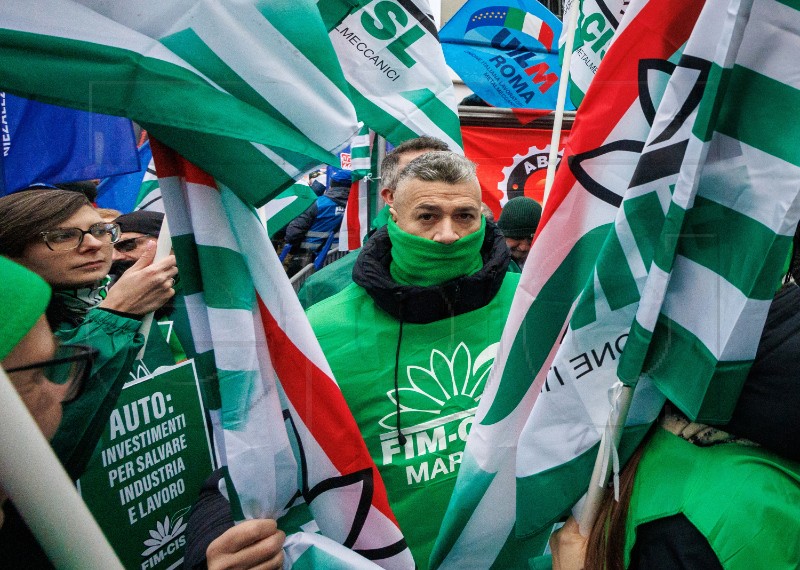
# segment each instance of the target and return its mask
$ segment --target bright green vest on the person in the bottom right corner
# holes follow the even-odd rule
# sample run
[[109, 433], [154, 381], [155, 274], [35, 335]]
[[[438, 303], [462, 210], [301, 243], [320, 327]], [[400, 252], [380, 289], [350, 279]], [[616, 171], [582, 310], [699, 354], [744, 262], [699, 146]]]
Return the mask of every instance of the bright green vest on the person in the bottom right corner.
[[698, 447], [659, 429], [636, 473], [626, 567], [638, 525], [678, 513], [726, 570], [800, 567], [800, 463], [735, 443]]

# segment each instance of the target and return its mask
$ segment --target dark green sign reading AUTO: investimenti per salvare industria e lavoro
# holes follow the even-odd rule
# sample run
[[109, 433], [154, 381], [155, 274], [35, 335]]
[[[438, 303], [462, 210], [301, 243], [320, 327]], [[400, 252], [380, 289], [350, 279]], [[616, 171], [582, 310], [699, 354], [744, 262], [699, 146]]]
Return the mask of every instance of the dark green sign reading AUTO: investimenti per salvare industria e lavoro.
[[197, 372], [193, 360], [152, 373], [138, 362], [131, 377], [79, 488], [126, 568], [175, 568], [214, 468]]

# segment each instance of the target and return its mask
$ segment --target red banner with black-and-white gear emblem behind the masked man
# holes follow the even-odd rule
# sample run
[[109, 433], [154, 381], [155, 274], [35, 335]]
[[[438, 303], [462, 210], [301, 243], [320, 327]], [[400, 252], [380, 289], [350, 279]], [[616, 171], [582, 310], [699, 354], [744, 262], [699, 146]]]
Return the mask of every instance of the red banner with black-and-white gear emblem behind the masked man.
[[[462, 127], [464, 154], [478, 165], [484, 203], [495, 219], [515, 196], [542, 203], [552, 132], [547, 129]], [[562, 131], [559, 158], [569, 131]]]

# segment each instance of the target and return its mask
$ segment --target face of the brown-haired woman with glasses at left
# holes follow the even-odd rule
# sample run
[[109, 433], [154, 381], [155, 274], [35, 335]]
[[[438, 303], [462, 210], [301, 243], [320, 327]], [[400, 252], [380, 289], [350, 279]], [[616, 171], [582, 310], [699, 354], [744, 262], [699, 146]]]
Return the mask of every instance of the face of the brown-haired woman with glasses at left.
[[[91, 206], [83, 206], [66, 221], [53, 227], [43, 227], [42, 231], [57, 228], [79, 228], [88, 230], [92, 224], [103, 219]], [[81, 245], [67, 251], [51, 251], [44, 241], [29, 244], [19, 263], [38, 273], [54, 289], [87, 287], [98, 282], [108, 274], [112, 258], [111, 243], [103, 243], [85, 234]]]

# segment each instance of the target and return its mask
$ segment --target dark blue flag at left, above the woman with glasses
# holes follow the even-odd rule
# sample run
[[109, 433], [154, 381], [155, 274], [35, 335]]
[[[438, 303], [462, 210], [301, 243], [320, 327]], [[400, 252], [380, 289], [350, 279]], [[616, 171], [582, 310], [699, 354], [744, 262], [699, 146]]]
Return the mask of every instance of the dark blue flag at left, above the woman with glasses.
[[0, 93], [0, 195], [139, 170], [130, 119]]

